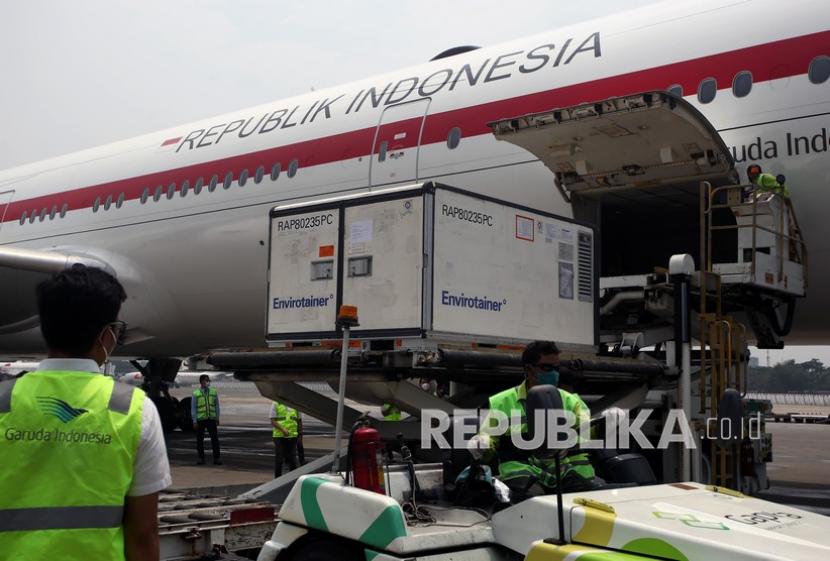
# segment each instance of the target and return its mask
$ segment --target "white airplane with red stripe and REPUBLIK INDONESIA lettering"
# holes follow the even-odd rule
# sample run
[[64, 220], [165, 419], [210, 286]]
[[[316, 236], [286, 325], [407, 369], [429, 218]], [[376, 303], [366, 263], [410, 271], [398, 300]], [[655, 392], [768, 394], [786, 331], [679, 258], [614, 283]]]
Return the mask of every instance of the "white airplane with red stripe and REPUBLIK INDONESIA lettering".
[[122, 356], [262, 346], [275, 205], [434, 180], [572, 216], [488, 123], [650, 90], [702, 112], [737, 169], [786, 175], [818, 288], [788, 342], [826, 343], [828, 16], [824, 0], [664, 2], [0, 172], [0, 355], [42, 352], [29, 294], [72, 263], [124, 284]]

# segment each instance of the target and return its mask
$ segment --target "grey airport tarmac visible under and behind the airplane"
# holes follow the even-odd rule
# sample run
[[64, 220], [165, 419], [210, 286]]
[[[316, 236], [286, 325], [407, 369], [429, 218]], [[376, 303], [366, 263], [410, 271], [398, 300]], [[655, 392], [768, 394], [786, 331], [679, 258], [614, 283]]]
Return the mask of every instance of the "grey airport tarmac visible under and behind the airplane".
[[[197, 466], [194, 434], [175, 431], [167, 436], [173, 486], [233, 493], [270, 481], [274, 469], [269, 422], [272, 402], [260, 396], [253, 384], [214, 386], [220, 397], [223, 465], [210, 463], [206, 435], [208, 463]], [[192, 391], [192, 387], [181, 387], [171, 393], [181, 398]], [[304, 423], [306, 461], [334, 448], [334, 427], [307, 416]], [[766, 426], [773, 439], [773, 462], [767, 465], [772, 487], [763, 497], [830, 515], [830, 425], [770, 422]]]

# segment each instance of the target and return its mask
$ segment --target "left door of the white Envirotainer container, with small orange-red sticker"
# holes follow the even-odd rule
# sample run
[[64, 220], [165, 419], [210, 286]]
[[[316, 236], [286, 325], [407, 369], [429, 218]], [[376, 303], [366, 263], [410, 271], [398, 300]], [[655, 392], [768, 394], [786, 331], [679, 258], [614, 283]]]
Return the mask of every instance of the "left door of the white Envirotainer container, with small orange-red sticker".
[[268, 334], [334, 331], [337, 209], [271, 218]]

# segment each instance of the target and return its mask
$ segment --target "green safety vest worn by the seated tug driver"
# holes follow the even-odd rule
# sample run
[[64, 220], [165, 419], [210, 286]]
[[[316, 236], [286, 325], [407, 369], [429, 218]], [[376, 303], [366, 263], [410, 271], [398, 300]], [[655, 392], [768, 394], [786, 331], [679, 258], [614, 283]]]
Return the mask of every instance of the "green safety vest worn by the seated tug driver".
[[[587, 422], [590, 420], [590, 410], [582, 399], [573, 393], [566, 392], [563, 389], [559, 390], [562, 396], [563, 408], [571, 411], [577, 419], [577, 424]], [[527, 419], [525, 416], [524, 402], [527, 399], [527, 386], [522, 382], [519, 386], [509, 388], [503, 392], [497, 393], [490, 397], [490, 409], [501, 411], [508, 418], [511, 418], [514, 411], [521, 412], [522, 423], [520, 426], [510, 426], [509, 433], [525, 432], [527, 431]], [[487, 419], [485, 426], [495, 426], [495, 419]], [[510, 434], [505, 434], [504, 437], [510, 438]], [[485, 454], [485, 459], [492, 459], [499, 448], [499, 438], [491, 438], [491, 449], [489, 454]], [[594, 468], [588, 459], [587, 452], [579, 452], [570, 454], [561, 460], [562, 476], [564, 477], [569, 471], [574, 471], [577, 475], [585, 479], [592, 479], [595, 476]], [[499, 475], [503, 481], [514, 479], [516, 477], [534, 476], [545, 487], [556, 486], [556, 469], [553, 460], [540, 460], [533, 456], [527, 460], [516, 459], [499, 459]]]

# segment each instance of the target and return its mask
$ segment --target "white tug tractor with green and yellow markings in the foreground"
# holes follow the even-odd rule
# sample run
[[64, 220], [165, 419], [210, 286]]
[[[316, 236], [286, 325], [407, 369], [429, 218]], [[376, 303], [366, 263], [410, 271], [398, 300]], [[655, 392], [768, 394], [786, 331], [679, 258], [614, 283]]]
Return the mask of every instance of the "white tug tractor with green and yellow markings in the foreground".
[[[528, 419], [534, 401], [561, 408], [559, 395], [553, 386], [530, 390]], [[347, 483], [365, 482], [365, 474], [303, 476], [258, 560], [807, 561], [830, 552], [827, 517], [723, 487], [615, 483], [469, 508], [455, 504], [469, 497], [448, 492], [445, 473], [436, 465], [398, 466], [389, 469], [385, 490]]]

